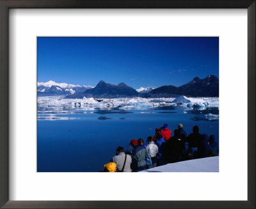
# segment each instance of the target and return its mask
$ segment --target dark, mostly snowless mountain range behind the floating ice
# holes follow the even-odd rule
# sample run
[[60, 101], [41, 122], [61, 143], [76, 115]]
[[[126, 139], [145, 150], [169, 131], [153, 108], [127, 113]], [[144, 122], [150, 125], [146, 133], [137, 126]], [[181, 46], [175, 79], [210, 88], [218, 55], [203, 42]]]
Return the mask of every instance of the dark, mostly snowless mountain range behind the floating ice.
[[[152, 88], [152, 87], [151, 87]], [[142, 91], [143, 89], [141, 89]], [[173, 85], [164, 85], [153, 89], [147, 93], [140, 93], [138, 90], [129, 87], [125, 83], [113, 85], [100, 81], [94, 88], [87, 89], [84, 92], [76, 92], [68, 95], [67, 98], [117, 98], [117, 97], [177, 97], [180, 95], [190, 97], [218, 97], [219, 96], [219, 78], [209, 75], [204, 79], [193, 78], [191, 82], [175, 87]]]

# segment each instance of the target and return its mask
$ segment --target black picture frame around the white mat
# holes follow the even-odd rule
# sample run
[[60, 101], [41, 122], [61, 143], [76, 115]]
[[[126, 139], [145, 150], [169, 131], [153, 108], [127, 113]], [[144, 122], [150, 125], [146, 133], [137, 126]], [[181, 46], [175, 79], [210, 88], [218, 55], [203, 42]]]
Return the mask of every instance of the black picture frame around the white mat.
[[[0, 0], [0, 206], [2, 208], [255, 208], [255, 5], [255, 0]], [[246, 8], [248, 11], [248, 201], [9, 201], [8, 13], [10, 8]]]

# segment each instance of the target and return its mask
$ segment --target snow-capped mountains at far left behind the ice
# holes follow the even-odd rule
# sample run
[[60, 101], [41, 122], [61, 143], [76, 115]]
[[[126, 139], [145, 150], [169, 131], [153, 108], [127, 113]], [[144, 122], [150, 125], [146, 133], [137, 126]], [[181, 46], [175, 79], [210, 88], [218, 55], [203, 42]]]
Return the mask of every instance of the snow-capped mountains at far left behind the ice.
[[86, 85], [74, 85], [68, 83], [56, 83], [52, 80], [49, 82], [38, 82], [37, 83], [37, 93], [40, 96], [49, 95], [62, 95], [62, 94], [74, 94], [76, 92], [84, 92], [84, 90], [92, 89], [91, 86]]

